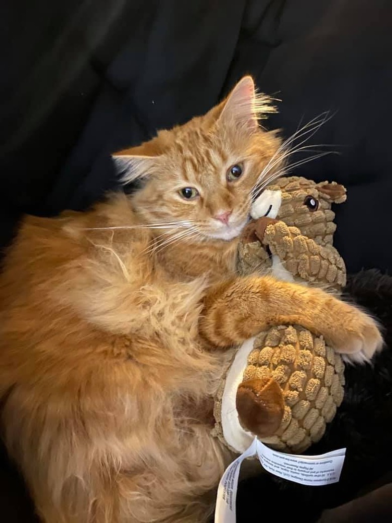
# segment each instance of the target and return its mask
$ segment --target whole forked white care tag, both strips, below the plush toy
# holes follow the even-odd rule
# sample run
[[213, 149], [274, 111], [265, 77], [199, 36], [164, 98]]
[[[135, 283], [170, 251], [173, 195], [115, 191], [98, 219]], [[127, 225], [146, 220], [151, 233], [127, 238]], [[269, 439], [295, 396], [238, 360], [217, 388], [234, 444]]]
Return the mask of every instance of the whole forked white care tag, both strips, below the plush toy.
[[263, 468], [283, 479], [302, 485], [337, 483], [343, 468], [345, 450], [332, 450], [318, 456], [298, 456], [272, 450], [257, 438], [225, 470], [218, 485], [215, 523], [236, 523], [236, 498], [241, 463], [257, 454]]

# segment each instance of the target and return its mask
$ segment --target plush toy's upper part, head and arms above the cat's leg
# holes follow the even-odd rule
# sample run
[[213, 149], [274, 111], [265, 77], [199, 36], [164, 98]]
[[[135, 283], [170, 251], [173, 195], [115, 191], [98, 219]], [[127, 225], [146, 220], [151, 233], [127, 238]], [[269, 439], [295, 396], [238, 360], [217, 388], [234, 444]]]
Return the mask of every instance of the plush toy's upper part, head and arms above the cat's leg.
[[[331, 204], [345, 201], [345, 192], [335, 182], [316, 184], [297, 176], [276, 180], [252, 205], [255, 221], [239, 244], [240, 274], [272, 272], [281, 280], [339, 291], [346, 275], [332, 246], [336, 224]], [[267, 225], [276, 220], [281, 224], [265, 234]]]

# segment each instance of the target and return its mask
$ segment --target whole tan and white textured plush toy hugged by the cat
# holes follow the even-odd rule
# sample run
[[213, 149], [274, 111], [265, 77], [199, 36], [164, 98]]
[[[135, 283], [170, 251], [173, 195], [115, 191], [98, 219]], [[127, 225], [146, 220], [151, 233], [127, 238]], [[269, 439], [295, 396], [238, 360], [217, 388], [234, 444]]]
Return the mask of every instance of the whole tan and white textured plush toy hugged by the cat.
[[[240, 274], [260, 272], [339, 292], [345, 266], [332, 246], [331, 203], [345, 188], [281, 178], [252, 206], [239, 245]], [[343, 399], [341, 356], [301, 325], [276, 325], [247, 340], [226, 370], [215, 401], [214, 434], [235, 452], [256, 436], [301, 453], [324, 434]]]

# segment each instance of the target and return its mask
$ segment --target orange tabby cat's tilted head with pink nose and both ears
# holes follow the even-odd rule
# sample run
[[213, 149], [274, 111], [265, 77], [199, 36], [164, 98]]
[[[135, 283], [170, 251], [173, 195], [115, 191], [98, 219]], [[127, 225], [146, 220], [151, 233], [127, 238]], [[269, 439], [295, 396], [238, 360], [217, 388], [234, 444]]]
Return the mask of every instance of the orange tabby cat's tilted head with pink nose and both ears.
[[206, 115], [116, 153], [124, 183], [143, 181], [131, 196], [142, 220], [178, 223], [203, 240], [238, 236], [256, 188], [279, 168], [279, 161], [270, 161], [280, 140], [258, 124], [272, 111], [246, 76]]

